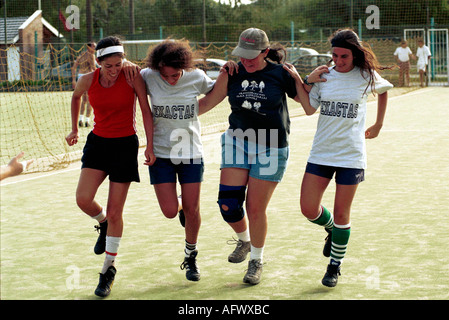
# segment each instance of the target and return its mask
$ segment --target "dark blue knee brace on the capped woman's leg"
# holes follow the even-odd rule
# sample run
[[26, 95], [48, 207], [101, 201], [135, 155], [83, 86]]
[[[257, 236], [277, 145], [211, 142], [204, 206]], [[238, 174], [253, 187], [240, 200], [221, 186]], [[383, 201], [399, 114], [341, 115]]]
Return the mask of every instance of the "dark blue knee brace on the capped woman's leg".
[[246, 186], [226, 186], [220, 184], [218, 205], [226, 222], [237, 222], [245, 216], [243, 202], [245, 201]]

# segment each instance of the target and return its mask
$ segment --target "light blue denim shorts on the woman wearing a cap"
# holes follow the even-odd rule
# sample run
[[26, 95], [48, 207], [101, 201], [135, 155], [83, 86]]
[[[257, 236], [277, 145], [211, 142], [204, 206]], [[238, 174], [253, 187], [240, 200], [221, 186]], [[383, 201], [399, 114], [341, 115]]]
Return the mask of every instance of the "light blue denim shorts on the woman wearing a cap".
[[252, 178], [280, 182], [287, 169], [289, 147], [266, 147], [223, 133], [220, 168], [240, 168]]

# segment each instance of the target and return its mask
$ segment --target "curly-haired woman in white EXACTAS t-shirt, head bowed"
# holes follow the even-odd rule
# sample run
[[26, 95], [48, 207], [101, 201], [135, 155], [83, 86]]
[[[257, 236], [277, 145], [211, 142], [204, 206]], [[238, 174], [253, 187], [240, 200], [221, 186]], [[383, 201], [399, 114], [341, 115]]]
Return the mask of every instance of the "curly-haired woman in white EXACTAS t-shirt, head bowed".
[[[195, 68], [188, 41], [163, 41], [149, 51], [146, 63], [147, 68], [141, 74], [151, 99], [157, 158], [149, 167], [150, 181], [164, 216], [172, 219], [179, 211], [185, 227], [181, 269], [186, 270], [187, 280], [198, 281], [196, 256], [204, 163], [197, 97], [209, 92], [214, 81]], [[176, 180], [181, 185], [182, 210], [178, 207]]]

